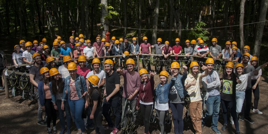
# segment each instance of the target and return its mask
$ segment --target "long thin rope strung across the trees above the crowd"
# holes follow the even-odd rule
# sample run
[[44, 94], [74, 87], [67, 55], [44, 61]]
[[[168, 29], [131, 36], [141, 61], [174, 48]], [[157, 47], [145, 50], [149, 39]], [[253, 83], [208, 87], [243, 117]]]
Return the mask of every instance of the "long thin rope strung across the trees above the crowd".
[[[249, 24], [255, 24], [255, 23], [262, 23], [262, 22], [267, 22], [268, 20], [265, 21], [260, 21], [260, 22], [254, 22], [254, 23], [247, 23], [247, 24], [243, 24], [243, 25], [249, 25]], [[109, 25], [109, 26], [113, 26], [113, 25]], [[240, 25], [234, 25], [234, 26], [240, 26]], [[139, 28], [128, 28], [128, 27], [120, 27], [120, 26], [113, 26], [113, 27], [118, 27], [118, 28], [126, 28], [126, 29], [134, 29], [134, 30], [153, 30], [153, 31], [185, 31], [185, 30], [199, 30], [199, 29], [181, 29], [181, 30], [162, 30], [162, 29], [139, 29]], [[211, 28], [202, 28], [203, 30], [206, 29], [217, 29], [217, 28], [224, 28], [224, 27], [232, 27], [232, 26], [220, 26], [220, 27], [211, 27]]]

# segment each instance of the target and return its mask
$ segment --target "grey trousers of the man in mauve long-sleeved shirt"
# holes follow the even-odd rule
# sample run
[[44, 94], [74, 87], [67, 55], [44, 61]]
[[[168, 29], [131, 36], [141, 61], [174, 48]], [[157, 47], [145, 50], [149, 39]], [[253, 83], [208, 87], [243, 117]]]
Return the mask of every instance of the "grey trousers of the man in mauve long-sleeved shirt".
[[[126, 99], [128, 99], [128, 98], [125, 98], [125, 97], [122, 98], [122, 113], [123, 112], [125, 113], [125, 115], [123, 116], [123, 118], [125, 119], [123, 126], [125, 126], [125, 124], [127, 123], [127, 118], [125, 118], [125, 117], [126, 117], [126, 113], [128, 112], [128, 105], [126, 105], [125, 111], [123, 111], [124, 107], [125, 107]], [[132, 110], [132, 115], [133, 115], [132, 122], [134, 122], [134, 123], [135, 123], [135, 120], [136, 120], [136, 113], [137, 113], [136, 102], [137, 102], [137, 100], [128, 100], [128, 103], [130, 103], [129, 107]]]

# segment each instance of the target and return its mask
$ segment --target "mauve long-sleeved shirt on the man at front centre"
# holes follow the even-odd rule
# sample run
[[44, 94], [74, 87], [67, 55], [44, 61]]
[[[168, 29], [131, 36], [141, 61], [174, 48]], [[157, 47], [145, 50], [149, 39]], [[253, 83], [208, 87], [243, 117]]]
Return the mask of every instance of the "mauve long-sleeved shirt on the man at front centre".
[[[139, 91], [141, 78], [139, 73], [135, 71], [134, 74], [130, 74], [128, 70], [124, 70], [122, 76], [124, 77], [124, 88], [123, 88], [123, 97], [128, 97], [132, 95], [135, 90]], [[138, 93], [133, 96], [132, 100], [136, 100], [138, 98]]]

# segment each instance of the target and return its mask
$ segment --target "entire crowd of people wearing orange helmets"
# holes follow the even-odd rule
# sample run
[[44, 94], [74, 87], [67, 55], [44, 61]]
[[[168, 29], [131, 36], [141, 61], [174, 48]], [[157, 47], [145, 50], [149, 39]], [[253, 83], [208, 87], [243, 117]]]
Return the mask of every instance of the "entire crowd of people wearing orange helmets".
[[[153, 108], [156, 111], [161, 134], [165, 134], [165, 119], [167, 112], [171, 109], [176, 134], [183, 133], [183, 108], [185, 97], [189, 97], [189, 113], [195, 133], [202, 133], [202, 127], [206, 125], [208, 119], [212, 116], [211, 129], [220, 134], [218, 130], [218, 118], [220, 104], [222, 105], [224, 125], [221, 130], [226, 130], [228, 126], [227, 111], [230, 109], [230, 123], [234, 124], [236, 134], [239, 134], [239, 123], [248, 121], [254, 123], [250, 118], [252, 91], [254, 93], [254, 109], [252, 112], [262, 114], [258, 110], [260, 76], [261, 68], [266, 67], [268, 63], [258, 65], [258, 58], [249, 54], [249, 46], [245, 46], [244, 53], [241, 54], [236, 47], [237, 43], [227, 41], [223, 50], [217, 44], [217, 39], [212, 39], [210, 49], [204, 45], [201, 38], [185, 41], [185, 58], [191, 58], [191, 55], [211, 58], [205, 60], [205, 65], [199, 66], [194, 61], [189, 66], [183, 65], [183, 73], [178, 55], [182, 54], [180, 39], [175, 39], [175, 45], [171, 48], [168, 41], [162, 44], [162, 39], [157, 39], [157, 44], [150, 45], [147, 37], [143, 37], [143, 43], [137, 44], [137, 39], [132, 38], [132, 44], [128, 38], [115, 37], [106, 42], [100, 36], [96, 37], [96, 42], [91, 46], [90, 40], [84, 40], [82, 34], [79, 37], [69, 38], [70, 43], [66, 44], [61, 37], [57, 37], [50, 49], [44, 38], [41, 43], [37, 41], [20, 41], [15, 45], [15, 52], [12, 54], [12, 60], [16, 69], [19, 70], [20, 64], [28, 63], [27, 69], [30, 70], [30, 82], [33, 84], [34, 94], [38, 101], [37, 124], [47, 126], [48, 134], [57, 133], [56, 111], [58, 111], [61, 124], [60, 134], [70, 134], [71, 121], [73, 120], [78, 129], [77, 134], [85, 134], [87, 129], [95, 129], [96, 133], [104, 134], [105, 129], [112, 129], [111, 134], [116, 134], [122, 129], [124, 134], [125, 124], [127, 123], [126, 113], [132, 111], [132, 122], [135, 122], [137, 110], [140, 109], [143, 117], [144, 133], [150, 134], [150, 116]], [[166, 70], [160, 68], [156, 73], [150, 69], [134, 70], [136, 66], [134, 60], [129, 58], [125, 62], [124, 69], [115, 69], [114, 61], [107, 59], [104, 62], [104, 70], [100, 69], [101, 56], [125, 55], [129, 54], [151, 54], [151, 48], [156, 49], [156, 54], [163, 55], [160, 60], [175, 55], [175, 61]], [[3, 64], [6, 64], [6, 58], [0, 51]], [[1, 57], [2, 56], [2, 57]], [[147, 56], [147, 55], [142, 55]], [[217, 64], [217, 59], [222, 56], [225, 61], [225, 69], [220, 79], [218, 73], [213, 70]], [[92, 70], [87, 68], [87, 59], [93, 57]], [[74, 60], [73, 59], [77, 59]], [[60, 62], [63, 60], [63, 62]], [[162, 62], [161, 62], [161, 65]], [[170, 68], [168, 70], [167, 68]], [[189, 72], [187, 71], [189, 70]], [[199, 73], [201, 71], [203, 73]], [[155, 86], [154, 76], [159, 74], [160, 83]], [[123, 76], [123, 91], [120, 90], [120, 76]], [[171, 79], [168, 82], [168, 79]], [[203, 90], [200, 90], [199, 80], [201, 79]], [[0, 83], [1, 84], [1, 83]], [[104, 87], [104, 99], [101, 89]], [[223, 85], [221, 87], [221, 85]], [[0, 85], [1, 86], [1, 85]], [[201, 92], [205, 95], [203, 99]], [[245, 103], [244, 103], [245, 101]], [[206, 113], [203, 115], [203, 102], [206, 104]], [[125, 104], [129, 105], [126, 108]], [[121, 107], [120, 107], [121, 105]], [[108, 113], [112, 108], [115, 120], [111, 119]], [[43, 118], [43, 112], [46, 115]], [[67, 128], [65, 128], [66, 114]], [[86, 113], [86, 118], [83, 118]], [[124, 115], [122, 115], [124, 113]], [[102, 116], [108, 122], [108, 125], [102, 124]], [[52, 129], [51, 129], [51, 124]]]

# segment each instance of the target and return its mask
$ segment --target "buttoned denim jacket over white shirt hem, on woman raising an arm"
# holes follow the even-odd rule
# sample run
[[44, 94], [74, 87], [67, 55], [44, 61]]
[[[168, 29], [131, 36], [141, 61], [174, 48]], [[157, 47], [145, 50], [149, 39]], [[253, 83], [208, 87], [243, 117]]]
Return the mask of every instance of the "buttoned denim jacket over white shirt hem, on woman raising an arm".
[[156, 101], [158, 100], [159, 103], [168, 102], [169, 90], [172, 86], [174, 86], [175, 80], [176, 78], [171, 78], [171, 81], [169, 83], [166, 83], [163, 86], [161, 86], [161, 83], [157, 85], [154, 91], [156, 95]]

